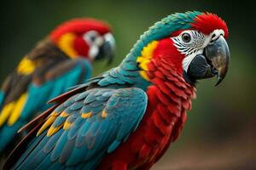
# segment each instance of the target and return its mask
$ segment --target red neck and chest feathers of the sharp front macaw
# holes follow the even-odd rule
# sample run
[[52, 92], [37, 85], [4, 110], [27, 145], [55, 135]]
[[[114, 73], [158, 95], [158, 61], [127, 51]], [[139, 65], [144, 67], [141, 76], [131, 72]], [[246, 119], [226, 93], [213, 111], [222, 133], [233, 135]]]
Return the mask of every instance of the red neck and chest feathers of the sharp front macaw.
[[[172, 63], [164, 59], [152, 59], [148, 68], [153, 85], [147, 90], [147, 120], [144, 124], [147, 130], [143, 133], [145, 143], [139, 154], [150, 156], [148, 164], [151, 164], [160, 159], [170, 143], [177, 139], [186, 121], [186, 111], [191, 109], [191, 99], [195, 98], [195, 89], [183, 80], [183, 75]], [[148, 153], [144, 148], [148, 148]]]

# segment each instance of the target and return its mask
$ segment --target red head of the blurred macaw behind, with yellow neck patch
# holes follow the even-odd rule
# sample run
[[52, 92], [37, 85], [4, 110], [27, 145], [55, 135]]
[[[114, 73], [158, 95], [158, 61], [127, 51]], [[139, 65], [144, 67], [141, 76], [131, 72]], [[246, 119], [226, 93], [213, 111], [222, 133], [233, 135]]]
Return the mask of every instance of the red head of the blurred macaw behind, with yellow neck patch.
[[113, 59], [115, 42], [108, 24], [95, 19], [73, 19], [57, 26], [49, 35], [71, 58]]

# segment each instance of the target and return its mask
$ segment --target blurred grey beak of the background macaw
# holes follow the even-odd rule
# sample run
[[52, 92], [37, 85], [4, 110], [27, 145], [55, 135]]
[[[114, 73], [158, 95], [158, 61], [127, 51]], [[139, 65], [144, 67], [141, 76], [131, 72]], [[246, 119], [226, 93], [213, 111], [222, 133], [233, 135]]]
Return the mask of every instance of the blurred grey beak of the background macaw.
[[113, 61], [115, 52], [115, 41], [111, 33], [107, 33], [103, 36], [104, 42], [100, 47], [100, 51], [96, 56], [96, 59], [106, 58], [108, 59], [108, 65]]

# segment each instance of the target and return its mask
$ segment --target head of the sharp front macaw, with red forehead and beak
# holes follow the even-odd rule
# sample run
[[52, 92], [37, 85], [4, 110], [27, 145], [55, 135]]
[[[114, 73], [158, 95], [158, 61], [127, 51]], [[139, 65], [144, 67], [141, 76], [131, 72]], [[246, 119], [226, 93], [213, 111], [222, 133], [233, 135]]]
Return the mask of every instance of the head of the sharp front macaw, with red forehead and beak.
[[[143, 43], [148, 46], [142, 51], [150, 51], [152, 59], [172, 63], [186, 82], [194, 84], [198, 79], [218, 77], [218, 85], [230, 62], [227, 37], [226, 23], [216, 14], [177, 13], [160, 20], [143, 34]], [[147, 59], [138, 58], [137, 62], [144, 71], [148, 70], [147, 65], [143, 65], [148, 63]], [[146, 74], [142, 75], [148, 79]]]

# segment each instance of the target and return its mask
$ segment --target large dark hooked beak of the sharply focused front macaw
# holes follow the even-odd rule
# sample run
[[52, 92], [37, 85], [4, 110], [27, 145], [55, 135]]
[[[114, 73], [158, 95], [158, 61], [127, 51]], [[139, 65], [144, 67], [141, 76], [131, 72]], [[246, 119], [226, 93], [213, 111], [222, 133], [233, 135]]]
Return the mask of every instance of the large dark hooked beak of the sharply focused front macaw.
[[210, 42], [203, 54], [197, 54], [189, 64], [191, 80], [218, 77], [215, 86], [224, 80], [230, 63], [230, 49], [223, 36]]

